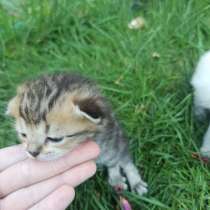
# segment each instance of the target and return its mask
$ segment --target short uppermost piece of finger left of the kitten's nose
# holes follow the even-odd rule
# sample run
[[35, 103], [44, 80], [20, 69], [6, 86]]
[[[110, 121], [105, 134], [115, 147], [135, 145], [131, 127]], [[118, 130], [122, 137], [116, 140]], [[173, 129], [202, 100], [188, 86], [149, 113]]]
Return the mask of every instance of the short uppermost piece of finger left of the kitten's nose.
[[0, 150], [0, 171], [27, 158], [23, 145], [15, 145]]

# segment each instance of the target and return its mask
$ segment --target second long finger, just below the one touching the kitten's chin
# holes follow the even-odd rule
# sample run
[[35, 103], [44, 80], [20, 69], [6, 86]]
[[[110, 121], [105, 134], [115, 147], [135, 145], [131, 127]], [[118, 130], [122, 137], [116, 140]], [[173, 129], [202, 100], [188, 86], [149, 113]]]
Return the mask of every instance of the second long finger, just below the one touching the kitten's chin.
[[[83, 163], [65, 173], [9, 194], [1, 201], [3, 209], [28, 209], [62, 185], [77, 186], [96, 172], [94, 162]], [[40, 190], [41, 189], [41, 190]], [[30, 198], [30, 199], [26, 199]]]

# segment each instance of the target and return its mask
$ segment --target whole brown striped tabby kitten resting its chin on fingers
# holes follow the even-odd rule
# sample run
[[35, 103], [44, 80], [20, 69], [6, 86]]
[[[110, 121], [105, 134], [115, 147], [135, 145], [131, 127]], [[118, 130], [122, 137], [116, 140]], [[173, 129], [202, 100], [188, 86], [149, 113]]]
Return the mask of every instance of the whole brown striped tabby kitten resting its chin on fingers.
[[93, 139], [101, 149], [97, 163], [108, 168], [113, 187], [126, 190], [128, 182], [132, 191], [147, 192], [110, 106], [88, 79], [60, 73], [28, 81], [18, 88], [7, 113], [15, 118], [30, 156], [57, 159]]

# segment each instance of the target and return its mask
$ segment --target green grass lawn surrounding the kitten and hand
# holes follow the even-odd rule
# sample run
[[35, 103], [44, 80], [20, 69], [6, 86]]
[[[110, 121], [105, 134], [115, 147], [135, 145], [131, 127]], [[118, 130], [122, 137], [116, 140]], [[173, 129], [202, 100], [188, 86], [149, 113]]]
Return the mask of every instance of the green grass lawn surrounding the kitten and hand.
[[[209, 1], [148, 0], [135, 12], [125, 0], [27, 2], [18, 11], [0, 7], [1, 147], [17, 142], [4, 115], [17, 84], [77, 70], [98, 82], [130, 137], [130, 151], [149, 184], [144, 197], [125, 193], [134, 210], [209, 210], [210, 170], [191, 158], [206, 125], [193, 117], [189, 85], [210, 45]], [[128, 29], [139, 15], [146, 28]], [[106, 173], [80, 186], [69, 209], [119, 210]]]

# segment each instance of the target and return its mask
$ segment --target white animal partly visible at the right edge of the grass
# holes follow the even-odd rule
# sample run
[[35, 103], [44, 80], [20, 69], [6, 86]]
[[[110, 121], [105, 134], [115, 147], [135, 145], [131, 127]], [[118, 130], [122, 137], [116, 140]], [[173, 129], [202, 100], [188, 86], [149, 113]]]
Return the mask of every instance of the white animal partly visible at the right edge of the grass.
[[[200, 58], [191, 84], [194, 88], [195, 115], [203, 120], [210, 111], [210, 51]], [[210, 157], [210, 125], [200, 151], [203, 156]]]

